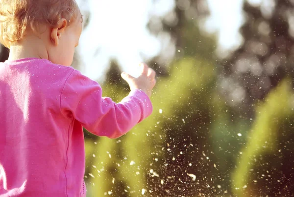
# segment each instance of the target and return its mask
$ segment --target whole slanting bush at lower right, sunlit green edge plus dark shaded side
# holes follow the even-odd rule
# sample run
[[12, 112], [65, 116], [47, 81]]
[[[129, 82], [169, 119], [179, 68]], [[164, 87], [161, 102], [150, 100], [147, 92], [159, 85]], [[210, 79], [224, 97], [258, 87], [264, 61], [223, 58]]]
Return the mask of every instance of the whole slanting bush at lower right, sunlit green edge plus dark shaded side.
[[233, 174], [238, 197], [294, 195], [292, 80], [285, 79], [258, 104], [256, 119]]

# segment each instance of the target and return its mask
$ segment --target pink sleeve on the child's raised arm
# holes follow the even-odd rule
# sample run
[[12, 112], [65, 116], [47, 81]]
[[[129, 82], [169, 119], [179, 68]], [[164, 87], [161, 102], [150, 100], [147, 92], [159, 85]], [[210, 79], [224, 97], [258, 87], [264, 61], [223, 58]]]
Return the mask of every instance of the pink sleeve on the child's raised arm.
[[118, 138], [152, 113], [152, 104], [141, 90], [131, 91], [120, 103], [102, 97], [100, 85], [74, 70], [60, 101], [61, 112], [75, 118], [97, 136]]

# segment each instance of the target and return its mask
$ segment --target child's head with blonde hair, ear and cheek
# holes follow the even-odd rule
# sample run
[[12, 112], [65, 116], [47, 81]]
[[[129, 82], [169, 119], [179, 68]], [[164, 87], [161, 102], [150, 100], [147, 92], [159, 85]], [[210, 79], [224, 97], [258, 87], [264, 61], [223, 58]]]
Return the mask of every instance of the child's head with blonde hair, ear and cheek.
[[0, 0], [0, 42], [10, 52], [71, 65], [81, 30], [75, 0]]

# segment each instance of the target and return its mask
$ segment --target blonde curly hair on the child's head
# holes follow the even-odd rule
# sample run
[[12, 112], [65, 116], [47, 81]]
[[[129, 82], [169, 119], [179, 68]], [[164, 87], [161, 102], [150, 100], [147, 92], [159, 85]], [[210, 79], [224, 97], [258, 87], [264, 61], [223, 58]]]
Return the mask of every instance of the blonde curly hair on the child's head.
[[61, 18], [71, 23], [77, 13], [75, 0], [0, 0], [0, 43], [9, 48], [27, 28], [39, 33], [44, 25], [56, 27]]

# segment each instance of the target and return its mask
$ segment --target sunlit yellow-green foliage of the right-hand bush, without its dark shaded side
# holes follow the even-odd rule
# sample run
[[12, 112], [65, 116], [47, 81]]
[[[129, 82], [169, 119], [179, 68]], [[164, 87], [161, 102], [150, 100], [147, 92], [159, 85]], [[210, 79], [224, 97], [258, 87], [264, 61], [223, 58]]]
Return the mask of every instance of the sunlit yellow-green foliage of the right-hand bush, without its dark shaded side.
[[[278, 148], [280, 141], [277, 140], [280, 134], [278, 133], [279, 128], [285, 124], [285, 119], [294, 114], [293, 109], [290, 108], [293, 96], [291, 85], [289, 79], [285, 79], [256, 109], [256, 120], [248, 135], [248, 143], [243, 148], [243, 155], [233, 174], [233, 190], [238, 197], [247, 197], [245, 191], [252, 190], [254, 183], [257, 182], [257, 179], [252, 180], [253, 176], [250, 176], [249, 173], [250, 169], [254, 169], [254, 166], [257, 165], [256, 158], [281, 151]], [[275, 159], [279, 160], [278, 157]], [[274, 163], [274, 161], [270, 162]]]

